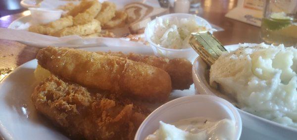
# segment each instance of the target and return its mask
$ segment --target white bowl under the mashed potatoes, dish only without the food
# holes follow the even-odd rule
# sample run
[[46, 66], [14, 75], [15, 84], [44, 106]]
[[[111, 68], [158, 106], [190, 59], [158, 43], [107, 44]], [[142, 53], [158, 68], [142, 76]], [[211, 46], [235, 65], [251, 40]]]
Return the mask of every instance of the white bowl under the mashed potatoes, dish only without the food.
[[[235, 50], [238, 45], [225, 46], [227, 50]], [[232, 102], [228, 97], [221, 96], [218, 91], [210, 88], [206, 81], [207, 65], [198, 56], [193, 64], [193, 80], [197, 93], [219, 95]], [[243, 133], [241, 140], [296, 140], [297, 129], [285, 127], [276, 122], [255, 116], [238, 109], [243, 121]]]

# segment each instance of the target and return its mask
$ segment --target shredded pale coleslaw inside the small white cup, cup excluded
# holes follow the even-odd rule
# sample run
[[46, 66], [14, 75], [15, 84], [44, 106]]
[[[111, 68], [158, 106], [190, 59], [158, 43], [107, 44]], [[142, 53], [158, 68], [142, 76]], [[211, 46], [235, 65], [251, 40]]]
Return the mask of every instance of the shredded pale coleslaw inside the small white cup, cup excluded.
[[154, 34], [151, 41], [161, 47], [182, 49], [191, 47], [188, 39], [193, 32], [205, 31], [204, 26], [199, 26], [195, 15], [191, 18], [172, 18], [163, 20], [156, 18]]

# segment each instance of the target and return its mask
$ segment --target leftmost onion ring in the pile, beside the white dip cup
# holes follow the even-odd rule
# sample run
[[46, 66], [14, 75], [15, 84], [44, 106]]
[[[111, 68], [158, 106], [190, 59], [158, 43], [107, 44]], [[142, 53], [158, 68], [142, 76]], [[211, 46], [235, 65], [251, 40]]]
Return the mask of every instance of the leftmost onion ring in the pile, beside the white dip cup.
[[43, 35], [49, 35], [55, 33], [63, 28], [73, 25], [73, 17], [66, 16], [56, 21], [52, 21], [46, 25], [32, 25], [29, 27], [29, 32], [39, 33]]

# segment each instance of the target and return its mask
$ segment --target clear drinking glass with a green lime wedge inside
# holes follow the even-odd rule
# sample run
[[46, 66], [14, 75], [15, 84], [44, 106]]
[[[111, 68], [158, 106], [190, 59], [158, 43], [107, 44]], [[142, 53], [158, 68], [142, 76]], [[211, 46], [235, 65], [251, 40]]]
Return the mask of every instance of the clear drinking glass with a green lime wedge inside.
[[266, 0], [261, 38], [269, 44], [297, 47], [297, 0]]

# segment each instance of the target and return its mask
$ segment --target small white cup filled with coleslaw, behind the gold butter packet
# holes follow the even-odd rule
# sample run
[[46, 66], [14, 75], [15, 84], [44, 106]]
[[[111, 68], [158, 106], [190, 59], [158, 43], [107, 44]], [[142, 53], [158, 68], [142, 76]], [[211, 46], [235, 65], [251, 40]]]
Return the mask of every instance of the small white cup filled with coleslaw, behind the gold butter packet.
[[210, 31], [211, 25], [203, 18], [193, 14], [167, 14], [148, 23], [145, 37], [155, 55], [172, 58], [188, 58], [198, 56], [188, 44], [193, 32]]

